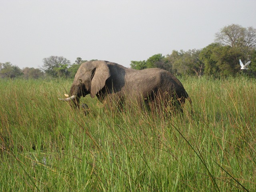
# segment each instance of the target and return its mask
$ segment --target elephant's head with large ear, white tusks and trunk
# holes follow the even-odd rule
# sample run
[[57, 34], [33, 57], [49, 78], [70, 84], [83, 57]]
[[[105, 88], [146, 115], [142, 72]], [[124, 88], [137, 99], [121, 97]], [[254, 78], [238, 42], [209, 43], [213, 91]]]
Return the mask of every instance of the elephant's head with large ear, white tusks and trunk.
[[88, 61], [78, 68], [76, 76], [70, 88], [70, 97], [59, 99], [62, 101], [73, 101], [79, 107], [81, 96], [90, 94], [92, 98], [101, 90], [106, 80], [110, 77], [110, 71], [106, 61]]

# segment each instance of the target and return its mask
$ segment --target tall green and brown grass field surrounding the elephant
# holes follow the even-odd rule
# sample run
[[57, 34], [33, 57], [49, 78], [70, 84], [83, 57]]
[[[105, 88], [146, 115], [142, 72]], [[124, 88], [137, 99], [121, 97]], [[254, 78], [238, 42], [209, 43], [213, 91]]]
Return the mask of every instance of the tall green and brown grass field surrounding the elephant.
[[[1, 191], [256, 191], [256, 80], [180, 79], [183, 115], [90, 114], [72, 80], [0, 80]], [[135, 106], [136, 108], [136, 106]]]

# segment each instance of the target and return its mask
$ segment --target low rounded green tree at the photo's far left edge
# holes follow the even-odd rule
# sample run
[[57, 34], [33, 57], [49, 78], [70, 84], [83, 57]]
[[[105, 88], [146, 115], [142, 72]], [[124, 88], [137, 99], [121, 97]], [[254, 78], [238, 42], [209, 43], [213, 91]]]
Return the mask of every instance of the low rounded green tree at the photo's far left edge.
[[15, 78], [22, 75], [21, 69], [12, 65], [10, 62], [0, 63], [0, 77], [1, 78]]

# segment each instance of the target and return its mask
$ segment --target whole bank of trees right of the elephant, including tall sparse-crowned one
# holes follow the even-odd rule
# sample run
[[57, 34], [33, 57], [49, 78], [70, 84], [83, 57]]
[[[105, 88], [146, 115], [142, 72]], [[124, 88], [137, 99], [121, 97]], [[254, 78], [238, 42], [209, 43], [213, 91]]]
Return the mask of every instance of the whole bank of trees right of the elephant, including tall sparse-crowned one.
[[202, 50], [173, 50], [172, 54], [162, 56], [156, 54], [144, 61], [132, 61], [134, 69], [162, 68], [180, 76], [236, 76], [241, 72], [239, 59], [243, 62], [251, 60], [248, 71], [242, 73], [255, 76], [256, 67], [253, 63], [256, 52], [256, 29], [243, 28], [232, 24], [225, 26], [216, 33], [216, 43]]

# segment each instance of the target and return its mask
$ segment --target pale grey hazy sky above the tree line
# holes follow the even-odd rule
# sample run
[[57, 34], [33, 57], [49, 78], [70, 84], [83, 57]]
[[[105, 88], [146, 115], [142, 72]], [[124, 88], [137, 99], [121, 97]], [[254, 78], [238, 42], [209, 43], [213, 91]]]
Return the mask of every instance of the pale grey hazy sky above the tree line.
[[256, 0], [0, 0], [0, 62], [38, 68], [63, 56], [129, 67], [204, 48], [230, 24], [256, 28]]

